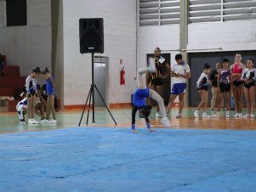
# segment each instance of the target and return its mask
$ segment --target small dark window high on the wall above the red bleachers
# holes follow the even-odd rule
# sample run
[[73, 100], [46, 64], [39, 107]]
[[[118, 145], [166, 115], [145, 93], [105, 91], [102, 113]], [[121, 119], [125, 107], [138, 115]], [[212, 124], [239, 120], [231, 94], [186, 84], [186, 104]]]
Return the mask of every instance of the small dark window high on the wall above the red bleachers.
[[6, 0], [6, 24], [27, 25], [26, 0]]

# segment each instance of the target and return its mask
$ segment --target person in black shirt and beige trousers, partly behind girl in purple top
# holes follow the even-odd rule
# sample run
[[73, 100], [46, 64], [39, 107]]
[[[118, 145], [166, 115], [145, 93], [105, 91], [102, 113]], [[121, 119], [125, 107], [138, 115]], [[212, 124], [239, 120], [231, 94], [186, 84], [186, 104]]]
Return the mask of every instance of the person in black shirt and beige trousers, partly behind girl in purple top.
[[218, 84], [217, 84], [217, 79], [218, 79], [218, 71], [221, 70], [221, 64], [217, 63], [216, 64], [216, 69], [212, 71], [210, 75], [210, 85], [212, 86], [212, 100], [211, 100], [211, 110], [214, 110], [215, 105], [216, 105], [216, 100], [218, 97], [219, 89], [218, 89]]

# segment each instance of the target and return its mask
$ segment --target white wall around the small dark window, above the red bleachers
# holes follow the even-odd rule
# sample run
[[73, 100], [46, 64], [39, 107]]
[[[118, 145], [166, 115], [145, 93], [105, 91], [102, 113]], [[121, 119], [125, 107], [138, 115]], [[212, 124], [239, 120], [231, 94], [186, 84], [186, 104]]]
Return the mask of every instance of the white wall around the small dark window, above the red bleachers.
[[[0, 53], [7, 55], [8, 65], [20, 65], [21, 76], [35, 66], [51, 66], [51, 1], [27, 0], [27, 25], [6, 26], [0, 14]], [[5, 2], [0, 2], [0, 11]], [[2, 17], [4, 16], [4, 18]]]

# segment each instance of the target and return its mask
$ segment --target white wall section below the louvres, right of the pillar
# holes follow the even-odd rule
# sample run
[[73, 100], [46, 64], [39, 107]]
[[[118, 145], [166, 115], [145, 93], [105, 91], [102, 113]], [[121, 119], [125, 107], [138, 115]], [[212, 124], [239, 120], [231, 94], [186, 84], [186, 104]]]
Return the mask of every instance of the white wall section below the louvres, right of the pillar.
[[256, 20], [190, 24], [188, 50], [222, 48], [219, 51], [255, 50]]

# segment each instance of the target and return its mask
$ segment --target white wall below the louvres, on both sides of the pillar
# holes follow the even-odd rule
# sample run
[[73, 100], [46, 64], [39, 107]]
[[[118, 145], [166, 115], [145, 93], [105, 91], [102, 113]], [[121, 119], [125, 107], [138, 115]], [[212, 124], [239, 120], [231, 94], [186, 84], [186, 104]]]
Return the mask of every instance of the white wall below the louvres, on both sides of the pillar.
[[[255, 50], [256, 20], [235, 20], [223, 23], [196, 23], [188, 25], [188, 51]], [[145, 65], [145, 54], [154, 48], [171, 50], [171, 63], [179, 53], [179, 25], [140, 26], [138, 28], [138, 66]], [[221, 49], [218, 49], [221, 48]]]

